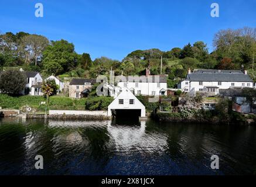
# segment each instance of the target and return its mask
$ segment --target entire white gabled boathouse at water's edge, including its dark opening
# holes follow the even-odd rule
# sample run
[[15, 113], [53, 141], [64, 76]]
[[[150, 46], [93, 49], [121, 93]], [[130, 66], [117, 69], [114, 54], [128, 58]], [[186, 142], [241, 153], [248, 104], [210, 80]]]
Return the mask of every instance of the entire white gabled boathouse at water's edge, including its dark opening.
[[126, 117], [138, 114], [139, 117], [146, 117], [145, 106], [136, 98], [136, 96], [128, 89], [123, 88], [117, 98], [108, 105], [108, 116], [122, 114]]

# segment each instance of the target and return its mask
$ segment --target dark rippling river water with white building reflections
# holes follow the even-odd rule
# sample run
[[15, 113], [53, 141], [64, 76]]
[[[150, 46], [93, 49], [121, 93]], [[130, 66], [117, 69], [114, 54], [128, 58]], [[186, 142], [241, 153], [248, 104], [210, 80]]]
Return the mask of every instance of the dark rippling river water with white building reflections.
[[[35, 169], [36, 155], [43, 169]], [[0, 119], [0, 175], [255, 173], [255, 126]]]

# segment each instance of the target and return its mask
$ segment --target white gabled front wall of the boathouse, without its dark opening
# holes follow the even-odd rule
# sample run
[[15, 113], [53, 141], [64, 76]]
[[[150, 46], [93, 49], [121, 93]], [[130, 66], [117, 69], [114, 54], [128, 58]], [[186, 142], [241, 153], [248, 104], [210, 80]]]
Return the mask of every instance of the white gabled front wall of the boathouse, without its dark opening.
[[117, 98], [108, 105], [108, 116], [112, 116], [113, 110], [139, 110], [141, 117], [146, 117], [145, 106], [128, 89], [122, 89]]

